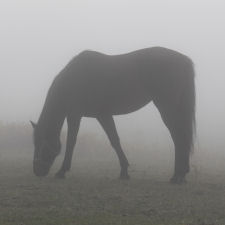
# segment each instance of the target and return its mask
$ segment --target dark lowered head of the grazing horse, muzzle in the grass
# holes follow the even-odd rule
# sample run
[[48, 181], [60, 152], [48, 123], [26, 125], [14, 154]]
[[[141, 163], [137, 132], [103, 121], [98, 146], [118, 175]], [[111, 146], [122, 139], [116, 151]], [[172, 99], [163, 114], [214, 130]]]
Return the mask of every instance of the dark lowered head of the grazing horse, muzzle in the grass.
[[46, 176], [60, 153], [60, 138], [45, 138], [37, 131], [37, 125], [33, 122], [31, 124], [34, 129], [33, 171], [36, 176]]

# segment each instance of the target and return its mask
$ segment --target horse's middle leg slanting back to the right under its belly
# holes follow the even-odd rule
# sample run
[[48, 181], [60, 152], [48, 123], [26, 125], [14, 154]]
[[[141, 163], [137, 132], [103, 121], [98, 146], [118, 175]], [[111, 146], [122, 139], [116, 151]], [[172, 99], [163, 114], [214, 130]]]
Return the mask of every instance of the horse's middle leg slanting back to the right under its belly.
[[127, 172], [127, 168], [129, 166], [128, 160], [121, 148], [119, 136], [116, 131], [116, 126], [111, 115], [104, 115], [97, 118], [104, 131], [106, 132], [112, 147], [115, 149], [117, 156], [120, 161], [120, 178], [121, 179], [129, 179], [129, 175]]

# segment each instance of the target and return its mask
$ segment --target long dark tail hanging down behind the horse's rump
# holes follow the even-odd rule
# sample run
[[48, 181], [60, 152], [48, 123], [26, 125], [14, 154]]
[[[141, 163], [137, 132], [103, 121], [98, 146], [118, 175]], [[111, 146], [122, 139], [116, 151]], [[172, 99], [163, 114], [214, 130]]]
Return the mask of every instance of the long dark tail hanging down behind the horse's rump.
[[196, 134], [195, 120], [195, 71], [194, 64], [190, 61], [187, 71], [185, 71], [184, 86], [181, 99], [179, 101], [179, 110], [182, 115], [182, 124], [185, 132], [187, 149], [189, 152], [194, 150], [194, 137]]

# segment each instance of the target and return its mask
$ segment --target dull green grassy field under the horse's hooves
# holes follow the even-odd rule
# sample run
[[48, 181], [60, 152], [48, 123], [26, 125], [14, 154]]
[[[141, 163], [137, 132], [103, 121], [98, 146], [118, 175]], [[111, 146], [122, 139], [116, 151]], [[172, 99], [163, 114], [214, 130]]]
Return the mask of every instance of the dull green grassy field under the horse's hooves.
[[171, 185], [170, 169], [140, 164], [120, 181], [117, 162], [75, 161], [57, 180], [59, 162], [40, 179], [31, 159], [2, 158], [0, 225], [225, 225], [224, 174], [192, 172]]

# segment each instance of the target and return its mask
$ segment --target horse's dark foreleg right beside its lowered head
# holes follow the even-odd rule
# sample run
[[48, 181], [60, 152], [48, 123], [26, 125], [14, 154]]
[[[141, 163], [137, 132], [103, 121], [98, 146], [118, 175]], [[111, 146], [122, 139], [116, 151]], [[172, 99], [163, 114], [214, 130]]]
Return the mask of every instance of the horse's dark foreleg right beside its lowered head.
[[73, 150], [77, 140], [77, 133], [80, 127], [80, 120], [81, 120], [81, 117], [77, 117], [74, 115], [67, 117], [68, 129], [67, 129], [67, 140], [66, 140], [66, 152], [65, 152], [65, 157], [63, 160], [62, 167], [55, 175], [56, 178], [64, 178], [65, 173], [71, 168]]

